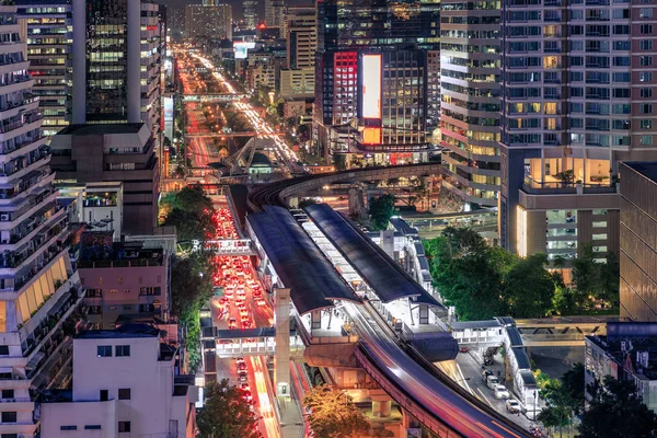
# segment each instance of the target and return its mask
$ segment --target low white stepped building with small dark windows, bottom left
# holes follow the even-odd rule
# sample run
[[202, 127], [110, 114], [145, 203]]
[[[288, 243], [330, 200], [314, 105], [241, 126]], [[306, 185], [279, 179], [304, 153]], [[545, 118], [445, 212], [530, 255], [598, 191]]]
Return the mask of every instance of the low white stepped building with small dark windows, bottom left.
[[149, 325], [82, 332], [73, 341], [73, 389], [42, 405], [42, 436], [194, 437], [196, 400], [177, 383], [175, 359]]

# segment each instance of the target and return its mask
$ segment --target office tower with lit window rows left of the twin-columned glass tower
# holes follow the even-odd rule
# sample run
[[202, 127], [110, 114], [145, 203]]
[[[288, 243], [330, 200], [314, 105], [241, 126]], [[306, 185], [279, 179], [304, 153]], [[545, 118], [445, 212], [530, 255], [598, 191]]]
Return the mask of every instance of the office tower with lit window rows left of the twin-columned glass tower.
[[34, 95], [44, 115], [44, 136], [54, 136], [70, 122], [71, 2], [16, 0], [19, 20], [27, 24], [27, 60]]

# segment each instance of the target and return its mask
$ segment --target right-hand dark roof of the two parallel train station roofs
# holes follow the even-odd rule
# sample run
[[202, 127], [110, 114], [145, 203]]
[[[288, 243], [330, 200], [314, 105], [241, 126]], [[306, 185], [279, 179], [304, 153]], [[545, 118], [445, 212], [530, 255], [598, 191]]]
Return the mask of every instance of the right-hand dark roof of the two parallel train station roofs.
[[309, 218], [358, 272], [383, 302], [411, 298], [413, 302], [442, 307], [353, 222], [326, 204], [304, 208]]

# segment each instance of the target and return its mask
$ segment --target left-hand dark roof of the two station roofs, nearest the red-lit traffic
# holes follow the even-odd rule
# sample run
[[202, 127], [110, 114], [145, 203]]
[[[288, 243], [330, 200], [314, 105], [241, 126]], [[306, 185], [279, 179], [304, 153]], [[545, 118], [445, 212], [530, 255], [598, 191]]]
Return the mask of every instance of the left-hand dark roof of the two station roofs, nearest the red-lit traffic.
[[246, 220], [300, 314], [332, 307], [330, 300], [360, 302], [288, 210], [265, 206]]

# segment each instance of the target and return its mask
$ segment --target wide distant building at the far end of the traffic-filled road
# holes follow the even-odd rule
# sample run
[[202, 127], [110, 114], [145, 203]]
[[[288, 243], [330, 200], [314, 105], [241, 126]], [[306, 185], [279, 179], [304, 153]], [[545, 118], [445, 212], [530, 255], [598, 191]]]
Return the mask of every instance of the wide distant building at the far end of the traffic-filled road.
[[185, 7], [185, 38], [232, 39], [230, 4]]

